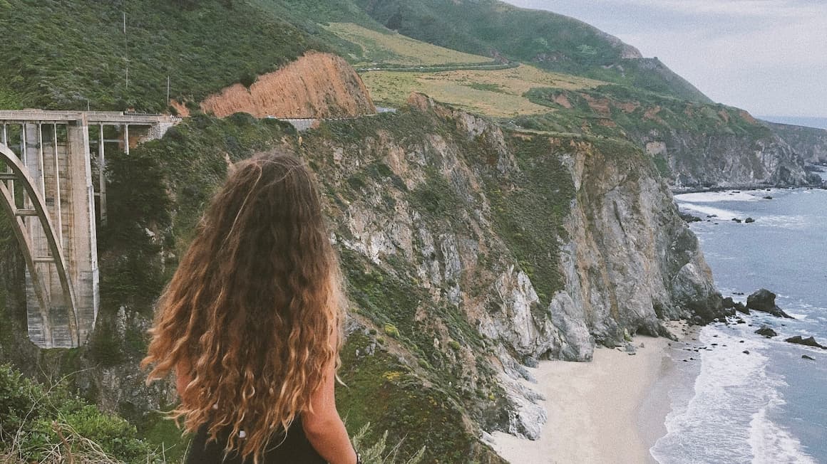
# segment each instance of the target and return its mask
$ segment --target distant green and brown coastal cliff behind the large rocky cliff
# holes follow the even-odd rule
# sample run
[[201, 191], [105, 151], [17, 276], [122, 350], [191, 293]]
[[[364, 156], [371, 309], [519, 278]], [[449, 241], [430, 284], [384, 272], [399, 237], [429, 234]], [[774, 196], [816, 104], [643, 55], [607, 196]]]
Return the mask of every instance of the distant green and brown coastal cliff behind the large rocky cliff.
[[821, 184], [806, 172], [799, 153], [812, 146], [812, 137], [791, 139], [796, 149], [738, 108], [617, 86], [580, 92], [533, 89], [528, 97], [560, 111], [544, 116], [546, 121], [523, 124], [633, 140], [677, 190]]

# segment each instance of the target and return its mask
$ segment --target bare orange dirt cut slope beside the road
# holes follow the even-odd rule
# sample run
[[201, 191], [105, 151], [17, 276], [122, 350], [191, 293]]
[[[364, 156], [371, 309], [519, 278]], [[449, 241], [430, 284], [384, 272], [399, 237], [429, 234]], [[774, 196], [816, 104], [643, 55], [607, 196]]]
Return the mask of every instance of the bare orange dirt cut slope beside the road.
[[376, 112], [365, 84], [335, 54], [308, 52], [282, 69], [259, 76], [249, 89], [240, 83], [207, 97], [201, 109], [224, 117], [328, 118]]

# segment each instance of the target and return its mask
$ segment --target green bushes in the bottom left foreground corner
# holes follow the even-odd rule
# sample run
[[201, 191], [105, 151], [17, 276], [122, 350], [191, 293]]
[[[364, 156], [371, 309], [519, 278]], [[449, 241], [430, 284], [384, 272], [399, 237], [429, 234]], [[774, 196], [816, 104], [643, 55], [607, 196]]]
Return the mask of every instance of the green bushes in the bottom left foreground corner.
[[2, 462], [163, 462], [126, 420], [7, 365], [0, 365], [0, 443]]

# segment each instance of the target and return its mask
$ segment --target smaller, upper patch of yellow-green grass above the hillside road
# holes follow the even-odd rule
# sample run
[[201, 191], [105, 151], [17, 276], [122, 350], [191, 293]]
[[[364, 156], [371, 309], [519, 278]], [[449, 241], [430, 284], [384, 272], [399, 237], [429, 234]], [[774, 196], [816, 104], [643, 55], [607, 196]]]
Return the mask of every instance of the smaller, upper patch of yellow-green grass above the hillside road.
[[342, 39], [361, 46], [362, 56], [351, 56], [359, 63], [356, 67], [370, 64], [399, 64], [404, 66], [433, 66], [436, 64], [480, 64], [491, 59], [478, 54], [467, 54], [442, 48], [395, 32], [379, 32], [349, 22], [332, 22], [327, 30]]

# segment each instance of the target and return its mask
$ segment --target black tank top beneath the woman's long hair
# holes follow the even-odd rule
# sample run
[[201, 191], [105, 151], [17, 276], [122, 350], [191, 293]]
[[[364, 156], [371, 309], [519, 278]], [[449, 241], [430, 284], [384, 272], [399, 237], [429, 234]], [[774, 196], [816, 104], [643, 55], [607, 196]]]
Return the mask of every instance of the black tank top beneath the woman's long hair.
[[[186, 464], [252, 464], [252, 459], [242, 461], [234, 452], [224, 457], [224, 445], [230, 432], [232, 429], [223, 430], [218, 433], [218, 441], [208, 441], [207, 426], [203, 425], [189, 443]], [[327, 464], [327, 461], [310, 444], [301, 419], [296, 417], [286, 437], [279, 433], [270, 439], [261, 464]]]

